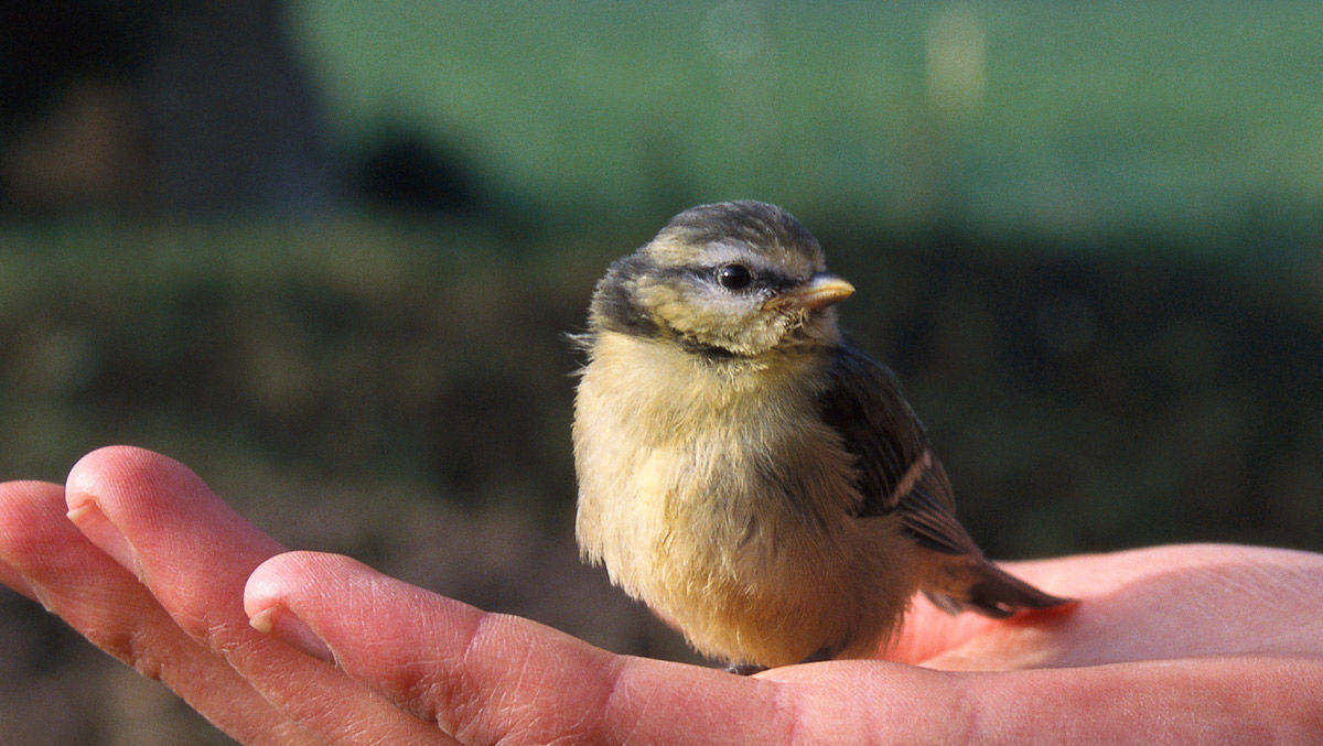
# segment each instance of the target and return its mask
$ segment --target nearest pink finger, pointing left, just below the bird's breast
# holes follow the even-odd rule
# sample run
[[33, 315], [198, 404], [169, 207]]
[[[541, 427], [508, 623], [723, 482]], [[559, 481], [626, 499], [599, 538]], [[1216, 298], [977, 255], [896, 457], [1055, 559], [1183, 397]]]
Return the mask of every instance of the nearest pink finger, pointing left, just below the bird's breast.
[[463, 742], [761, 742], [794, 731], [771, 681], [610, 655], [347, 557], [274, 557], [249, 581], [245, 606], [255, 618], [287, 614], [286, 628], [302, 624], [349, 676]]

